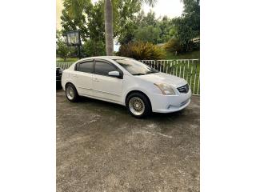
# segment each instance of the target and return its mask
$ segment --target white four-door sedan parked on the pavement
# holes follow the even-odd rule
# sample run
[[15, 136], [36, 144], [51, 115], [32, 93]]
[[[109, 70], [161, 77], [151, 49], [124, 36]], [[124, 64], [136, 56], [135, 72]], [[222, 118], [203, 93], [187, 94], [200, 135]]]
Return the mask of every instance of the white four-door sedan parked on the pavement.
[[183, 78], [154, 70], [133, 58], [83, 58], [62, 72], [66, 98], [96, 98], [126, 106], [136, 118], [170, 113], [190, 104], [190, 86]]

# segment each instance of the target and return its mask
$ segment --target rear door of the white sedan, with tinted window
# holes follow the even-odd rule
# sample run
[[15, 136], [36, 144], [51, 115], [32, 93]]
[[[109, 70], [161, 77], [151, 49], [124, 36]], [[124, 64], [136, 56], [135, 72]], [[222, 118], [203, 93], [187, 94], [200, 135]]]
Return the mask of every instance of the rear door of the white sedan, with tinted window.
[[92, 76], [94, 72], [94, 61], [88, 60], [78, 62], [76, 65], [76, 88], [79, 95], [92, 95]]

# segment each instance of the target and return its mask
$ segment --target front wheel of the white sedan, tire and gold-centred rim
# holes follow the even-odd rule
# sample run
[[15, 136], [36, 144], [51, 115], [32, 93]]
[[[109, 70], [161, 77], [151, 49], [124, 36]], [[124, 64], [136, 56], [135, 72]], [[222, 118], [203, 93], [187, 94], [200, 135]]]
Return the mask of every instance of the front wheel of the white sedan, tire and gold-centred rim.
[[149, 99], [140, 93], [130, 94], [126, 99], [126, 107], [135, 118], [145, 118], [151, 113]]

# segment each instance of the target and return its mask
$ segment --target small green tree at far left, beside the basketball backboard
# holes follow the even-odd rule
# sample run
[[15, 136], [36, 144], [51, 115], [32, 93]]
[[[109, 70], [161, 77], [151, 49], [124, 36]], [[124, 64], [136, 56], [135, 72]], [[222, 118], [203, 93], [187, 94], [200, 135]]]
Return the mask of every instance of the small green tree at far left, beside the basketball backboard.
[[60, 57], [63, 58], [64, 61], [66, 61], [66, 58], [69, 54], [69, 49], [66, 46], [66, 42], [62, 38], [62, 34], [60, 31], [57, 30], [56, 32], [56, 54]]

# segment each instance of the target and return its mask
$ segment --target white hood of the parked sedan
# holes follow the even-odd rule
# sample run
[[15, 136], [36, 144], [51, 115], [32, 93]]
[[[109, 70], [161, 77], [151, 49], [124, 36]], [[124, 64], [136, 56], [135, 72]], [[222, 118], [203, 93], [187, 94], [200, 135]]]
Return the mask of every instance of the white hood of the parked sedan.
[[148, 82], [162, 82], [169, 84], [174, 87], [184, 86], [186, 85], [186, 80], [183, 78], [178, 78], [172, 74], [165, 74], [165, 73], [155, 73], [155, 74], [145, 74], [145, 75], [138, 75], [135, 76], [137, 78], [141, 78]]

